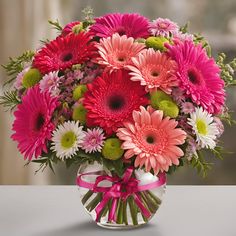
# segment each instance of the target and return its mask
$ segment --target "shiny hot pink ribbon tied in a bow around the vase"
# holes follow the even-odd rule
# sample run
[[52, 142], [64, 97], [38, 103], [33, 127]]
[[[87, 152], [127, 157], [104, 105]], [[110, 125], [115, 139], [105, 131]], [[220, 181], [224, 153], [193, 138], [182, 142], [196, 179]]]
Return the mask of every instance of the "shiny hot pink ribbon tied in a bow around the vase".
[[[159, 179], [150, 184], [145, 184], [139, 186], [139, 180], [132, 177], [132, 173], [134, 171], [133, 167], [129, 167], [126, 169], [122, 178], [120, 177], [112, 177], [109, 175], [101, 175], [101, 171], [89, 172], [85, 174], [81, 174], [77, 177], [77, 185], [83, 188], [87, 188], [92, 190], [93, 192], [102, 192], [104, 193], [102, 201], [95, 208], [96, 211], [96, 221], [99, 221], [101, 212], [103, 208], [106, 206], [110, 199], [112, 200], [111, 209], [108, 215], [108, 221], [116, 221], [116, 208], [117, 202], [120, 198], [122, 201], [125, 201], [129, 196], [133, 196], [135, 203], [139, 207], [141, 213], [149, 218], [151, 216], [150, 211], [143, 205], [141, 198], [138, 192], [150, 190], [159, 186], [162, 186], [166, 183], [166, 175], [164, 173], [160, 173], [158, 175]], [[83, 176], [86, 175], [99, 175], [96, 178], [95, 183], [89, 183], [82, 179]], [[99, 187], [99, 184], [102, 181], [110, 181], [112, 183], [111, 187]]]

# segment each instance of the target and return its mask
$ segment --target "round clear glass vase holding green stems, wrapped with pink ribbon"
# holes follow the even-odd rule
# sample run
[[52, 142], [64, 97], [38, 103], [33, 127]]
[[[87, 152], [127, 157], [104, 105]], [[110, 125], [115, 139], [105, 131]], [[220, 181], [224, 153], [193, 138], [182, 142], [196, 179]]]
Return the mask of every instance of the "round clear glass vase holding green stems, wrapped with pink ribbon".
[[88, 214], [99, 226], [112, 229], [148, 223], [161, 205], [166, 186], [164, 174], [129, 169], [120, 178], [96, 162], [79, 168], [77, 184]]

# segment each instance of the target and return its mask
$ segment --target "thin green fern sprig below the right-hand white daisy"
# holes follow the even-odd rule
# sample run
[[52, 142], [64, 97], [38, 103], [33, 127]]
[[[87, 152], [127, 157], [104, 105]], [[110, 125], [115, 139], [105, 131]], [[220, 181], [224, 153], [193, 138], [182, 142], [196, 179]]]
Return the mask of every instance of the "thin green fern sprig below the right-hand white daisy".
[[198, 174], [201, 174], [203, 178], [207, 176], [208, 171], [212, 168], [213, 163], [207, 162], [201, 151], [197, 151], [198, 156], [194, 156], [190, 161], [193, 168], [196, 168]]

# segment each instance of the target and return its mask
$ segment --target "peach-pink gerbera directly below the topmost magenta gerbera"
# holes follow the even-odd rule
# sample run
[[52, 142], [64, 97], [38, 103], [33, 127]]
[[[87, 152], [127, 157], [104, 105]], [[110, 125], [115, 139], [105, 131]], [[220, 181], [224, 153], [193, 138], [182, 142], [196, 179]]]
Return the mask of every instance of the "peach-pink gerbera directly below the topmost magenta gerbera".
[[127, 38], [126, 35], [113, 34], [97, 44], [100, 54], [97, 61], [100, 65], [106, 66], [109, 71], [122, 69], [130, 65], [131, 58], [137, 56], [144, 47], [144, 44], [135, 43], [133, 38]]

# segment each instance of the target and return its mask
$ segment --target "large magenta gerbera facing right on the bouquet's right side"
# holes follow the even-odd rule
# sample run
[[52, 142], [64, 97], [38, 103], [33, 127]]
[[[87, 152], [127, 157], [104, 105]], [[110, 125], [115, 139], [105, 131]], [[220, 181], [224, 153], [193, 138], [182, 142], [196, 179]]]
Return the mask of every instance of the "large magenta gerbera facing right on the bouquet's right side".
[[220, 113], [225, 101], [224, 81], [214, 59], [207, 56], [201, 44], [191, 41], [175, 41], [166, 46], [178, 64], [180, 89], [209, 113]]

